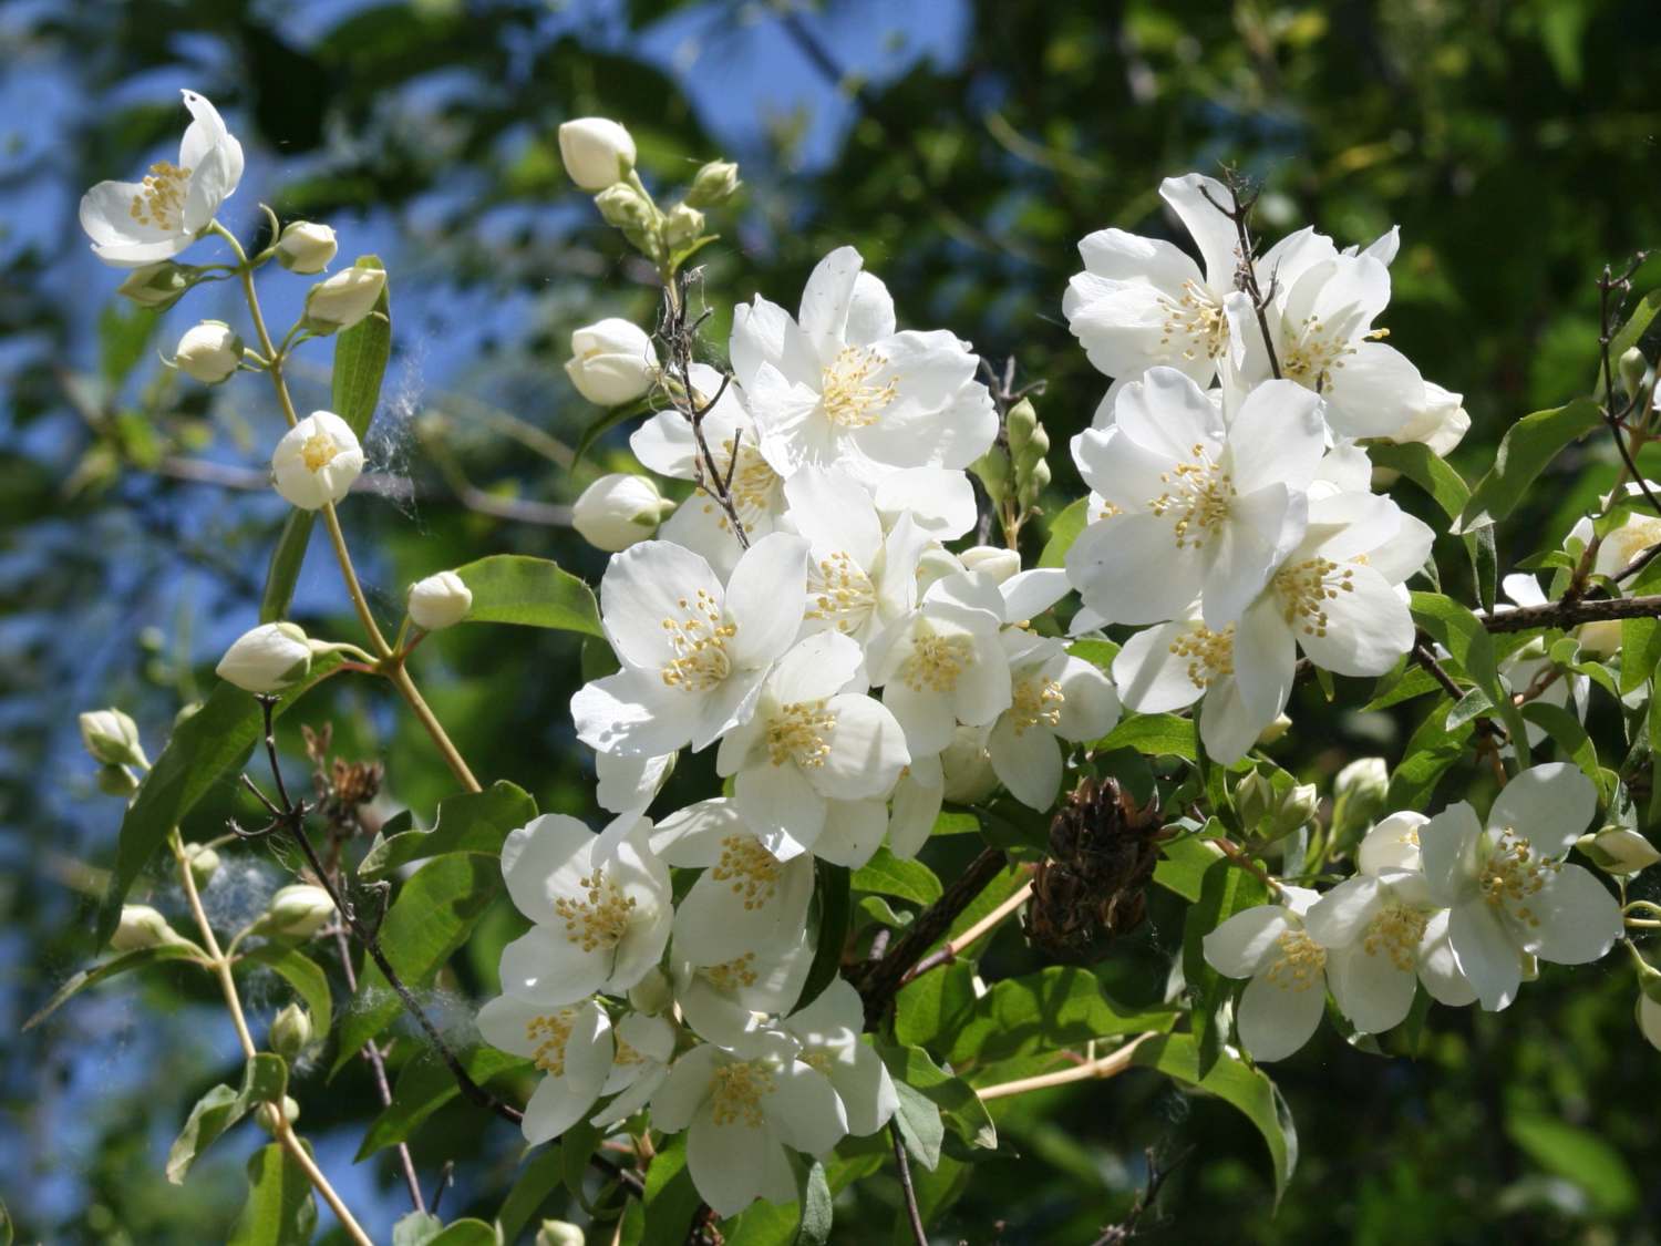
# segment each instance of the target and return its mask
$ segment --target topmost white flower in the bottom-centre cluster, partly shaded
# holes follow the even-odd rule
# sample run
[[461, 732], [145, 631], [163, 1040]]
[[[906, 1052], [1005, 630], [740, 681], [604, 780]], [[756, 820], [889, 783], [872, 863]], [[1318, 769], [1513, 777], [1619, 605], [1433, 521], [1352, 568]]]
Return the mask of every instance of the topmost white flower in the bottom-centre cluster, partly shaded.
[[674, 952], [719, 965], [767, 954], [801, 937], [814, 894], [814, 859], [781, 859], [734, 801], [714, 797], [658, 824], [651, 851], [676, 869], [703, 874], [674, 909]]

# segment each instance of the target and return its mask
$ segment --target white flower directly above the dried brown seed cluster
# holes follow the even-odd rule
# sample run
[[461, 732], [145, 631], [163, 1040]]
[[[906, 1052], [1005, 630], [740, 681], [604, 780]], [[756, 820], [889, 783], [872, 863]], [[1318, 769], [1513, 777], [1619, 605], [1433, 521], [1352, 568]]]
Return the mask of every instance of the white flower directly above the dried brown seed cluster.
[[992, 769], [1022, 804], [1043, 812], [1061, 791], [1060, 741], [1100, 739], [1120, 721], [1113, 681], [1058, 640], [1003, 633], [1012, 701], [987, 738]]

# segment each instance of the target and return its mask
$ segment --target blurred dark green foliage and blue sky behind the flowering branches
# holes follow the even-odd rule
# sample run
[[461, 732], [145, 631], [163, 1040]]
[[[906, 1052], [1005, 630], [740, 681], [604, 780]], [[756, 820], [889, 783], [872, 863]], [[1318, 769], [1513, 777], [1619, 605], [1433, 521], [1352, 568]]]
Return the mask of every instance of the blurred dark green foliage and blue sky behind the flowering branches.
[[[90, 959], [98, 871], [113, 861], [118, 806], [93, 791], [71, 711], [118, 703], [159, 743], [224, 643], [254, 621], [284, 515], [262, 492], [277, 427], [266, 389], [209, 395], [154, 365], [199, 316], [236, 319], [233, 291], [219, 287], [218, 309], [221, 294], [198, 296], [159, 326], [135, 317], [111, 307], [116, 277], [75, 224], [86, 184], [128, 176], [173, 141], [178, 86], [214, 98], [249, 146], [229, 224], [251, 234], [266, 199], [284, 219], [336, 224], [344, 256], [379, 253], [392, 272], [394, 364], [370, 439], [387, 497], [344, 508], [365, 580], [392, 613], [409, 580], [487, 552], [553, 557], [590, 578], [601, 567], [563, 527], [563, 503], [621, 442], [568, 470], [593, 409], [560, 362], [571, 327], [598, 314], [644, 322], [653, 292], [563, 179], [561, 120], [625, 121], [648, 181], [716, 155], [742, 163], [741, 221], [703, 256], [713, 342], [731, 302], [756, 289], [791, 304], [812, 262], [852, 243], [902, 322], [1017, 354], [1025, 377], [1050, 382], [1040, 410], [1058, 447], [1056, 498], [1076, 492], [1060, 447], [1105, 387], [1060, 316], [1078, 238], [1108, 224], [1169, 234], [1159, 178], [1219, 161], [1266, 179], [1271, 238], [1309, 221], [1365, 243], [1400, 223], [1392, 341], [1465, 394], [1473, 427], [1453, 462], [1475, 478], [1510, 422], [1585, 392], [1593, 277], [1661, 239], [1658, 45], [1661, 10], [1641, 0], [8, 5], [0, 1196], [20, 1238], [213, 1239], [236, 1216], [262, 1141], [244, 1125], [186, 1186], [164, 1181], [189, 1103], [238, 1080], [229, 1025], [201, 975], [126, 979], [18, 1037]], [[267, 306], [286, 324], [304, 282], [269, 287], [282, 291]], [[326, 357], [312, 361], [302, 409], [327, 394]], [[1502, 525], [1502, 571], [1560, 542], [1611, 475], [1603, 442], [1560, 457]], [[1409, 485], [1397, 495], [1427, 503]], [[1443, 588], [1468, 601], [1450, 545], [1438, 550]], [[296, 618], [314, 635], [350, 635], [326, 553], [314, 545]], [[419, 665], [482, 778], [518, 782], [543, 809], [593, 812], [566, 713], [575, 636], [463, 628], [424, 646]], [[1335, 704], [1362, 693], [1340, 689]], [[1399, 756], [1410, 718], [1340, 711], [1312, 681], [1299, 698], [1299, 729], [1276, 759], [1302, 779], [1359, 754]], [[425, 739], [379, 693], [326, 686], [284, 724], [296, 758], [301, 719], [332, 723], [341, 756], [385, 763], [389, 812], [427, 819], [450, 791]], [[1616, 724], [1591, 726], [1618, 741]], [[1440, 792], [1478, 781], [1462, 763]], [[676, 784], [698, 792], [699, 776]], [[216, 834], [238, 809], [229, 787], [218, 791], [186, 836]], [[953, 859], [942, 846], [943, 876]], [[226, 920], [247, 915], [274, 882], [244, 856], [209, 902]], [[179, 909], [159, 876], [146, 887]], [[493, 988], [515, 920], [505, 904], [492, 909], [442, 980], [435, 1003], [458, 1033], [467, 1000]], [[1156, 895], [1153, 920], [1105, 979], [1126, 998], [1156, 998], [1179, 937], [1179, 907]], [[1008, 929], [983, 974], [1030, 967]], [[272, 980], [269, 1000], [254, 1002], [282, 1000]], [[1008, 1100], [997, 1115], [1010, 1156], [980, 1165], [973, 1183], [952, 1160], [930, 1178], [937, 1193], [960, 1191], [940, 1233], [1090, 1241], [1128, 1206], [1153, 1146], [1166, 1161], [1194, 1148], [1146, 1226], [1153, 1239], [1651, 1241], [1658, 1057], [1631, 1002], [1624, 964], [1610, 960], [1548, 967], [1498, 1018], [1433, 1010], [1417, 1058], [1380, 1060], [1320, 1032], [1277, 1070], [1301, 1151], [1277, 1213], [1262, 1141], [1218, 1100], [1146, 1073]], [[417, 1053], [405, 1037], [394, 1062]], [[375, 1110], [367, 1077], [355, 1065], [326, 1077], [326, 1065], [296, 1075], [302, 1125], [385, 1236], [405, 1206], [389, 1153], [352, 1165]], [[510, 1126], [465, 1103], [415, 1136], [429, 1180], [455, 1161], [447, 1214], [493, 1216], [520, 1153]], [[880, 1239], [892, 1218], [882, 1181], [837, 1208], [850, 1241]], [[327, 1213], [321, 1223], [327, 1231]]]

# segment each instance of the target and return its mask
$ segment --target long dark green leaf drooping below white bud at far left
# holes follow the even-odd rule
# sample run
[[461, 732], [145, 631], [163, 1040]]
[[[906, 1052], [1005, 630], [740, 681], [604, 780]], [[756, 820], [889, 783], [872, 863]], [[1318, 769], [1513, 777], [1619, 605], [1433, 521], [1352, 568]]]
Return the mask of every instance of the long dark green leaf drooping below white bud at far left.
[[[307, 676], [277, 701], [274, 716], [281, 716], [339, 666], [337, 653], [314, 658]], [[223, 681], [208, 694], [201, 709], [173, 729], [173, 739], [156, 758], [121, 817], [115, 869], [98, 910], [98, 947], [110, 942], [121, 920], [121, 902], [168, 832], [184, 821], [209, 787], [243, 766], [262, 733], [259, 703], [251, 693]]]

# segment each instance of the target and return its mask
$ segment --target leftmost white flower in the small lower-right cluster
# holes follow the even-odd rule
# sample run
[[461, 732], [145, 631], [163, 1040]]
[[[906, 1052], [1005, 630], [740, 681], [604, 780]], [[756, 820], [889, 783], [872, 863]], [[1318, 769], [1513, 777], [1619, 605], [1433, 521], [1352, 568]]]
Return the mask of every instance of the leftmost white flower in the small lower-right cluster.
[[1237, 912], [1203, 940], [1208, 965], [1222, 977], [1251, 979], [1234, 1028], [1254, 1060], [1284, 1060], [1320, 1025], [1327, 952], [1304, 929], [1316, 899], [1304, 887], [1282, 887], [1282, 904]]

